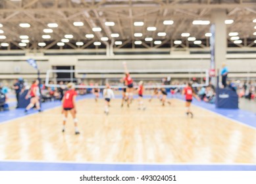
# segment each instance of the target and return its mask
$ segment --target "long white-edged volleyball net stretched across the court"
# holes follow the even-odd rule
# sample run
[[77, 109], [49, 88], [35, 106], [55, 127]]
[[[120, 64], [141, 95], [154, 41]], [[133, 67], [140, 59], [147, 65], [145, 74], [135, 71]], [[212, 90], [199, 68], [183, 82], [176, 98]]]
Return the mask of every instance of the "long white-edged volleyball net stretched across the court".
[[[58, 73], [69, 73], [70, 76], [74, 76], [74, 78], [57, 78]], [[74, 75], [72, 75], [74, 73]], [[144, 88], [172, 88], [172, 87], [185, 87], [186, 81], [192, 81], [193, 78], [200, 79], [197, 80], [198, 83], [193, 83], [193, 87], [206, 87], [209, 85], [209, 70], [201, 70], [201, 69], [188, 69], [188, 70], [129, 70], [129, 73], [134, 80], [134, 87], [138, 87], [140, 80], [144, 82]], [[86, 83], [90, 83], [90, 81], [100, 80], [101, 85], [84, 85], [84, 84], [76, 84], [75, 87], [82, 88], [105, 88], [105, 84], [109, 83], [111, 88], [113, 89], [122, 89], [126, 88], [121, 78], [124, 77], [124, 70], [47, 70], [46, 78], [45, 78], [45, 86], [47, 87], [63, 87], [63, 85], [59, 85], [59, 81], [64, 82], [75, 82], [78, 81], [86, 81]], [[168, 84], [163, 85], [162, 78], [171, 78], [172, 80], [182, 81], [182, 84]], [[202, 80], [205, 79], [205, 80]], [[55, 81], [55, 83], [50, 83], [50, 81]], [[97, 82], [98, 83], [98, 82]]]

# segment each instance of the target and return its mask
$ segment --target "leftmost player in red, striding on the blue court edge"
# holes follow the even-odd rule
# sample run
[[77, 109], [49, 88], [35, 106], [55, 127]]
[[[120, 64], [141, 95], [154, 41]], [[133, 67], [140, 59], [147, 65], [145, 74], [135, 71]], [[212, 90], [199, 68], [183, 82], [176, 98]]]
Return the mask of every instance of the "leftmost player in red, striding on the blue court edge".
[[30, 87], [30, 90], [28, 91], [28, 94], [25, 97], [25, 99], [28, 99], [28, 97], [30, 96], [30, 104], [28, 104], [28, 106], [26, 107], [25, 113], [27, 113], [28, 110], [30, 110], [30, 108], [33, 108], [35, 105], [36, 105], [36, 109], [38, 109], [38, 111], [41, 112], [40, 103], [39, 103], [40, 92], [39, 92], [38, 84], [39, 84], [38, 80], [33, 81]]

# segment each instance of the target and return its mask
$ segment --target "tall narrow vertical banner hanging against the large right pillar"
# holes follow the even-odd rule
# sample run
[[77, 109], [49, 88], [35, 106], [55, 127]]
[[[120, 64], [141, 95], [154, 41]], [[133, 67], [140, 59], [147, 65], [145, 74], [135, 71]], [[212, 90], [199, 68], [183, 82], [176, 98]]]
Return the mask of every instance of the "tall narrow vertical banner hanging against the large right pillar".
[[211, 49], [211, 64], [210, 77], [215, 77], [215, 24], [211, 25], [210, 49]]

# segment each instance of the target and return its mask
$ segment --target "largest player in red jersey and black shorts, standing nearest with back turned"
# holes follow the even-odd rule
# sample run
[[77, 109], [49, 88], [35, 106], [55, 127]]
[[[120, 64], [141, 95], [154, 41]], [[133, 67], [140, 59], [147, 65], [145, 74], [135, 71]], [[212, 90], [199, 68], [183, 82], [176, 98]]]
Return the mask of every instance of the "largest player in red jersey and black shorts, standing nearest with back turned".
[[68, 91], [66, 91], [63, 97], [63, 132], [65, 131], [68, 112], [70, 112], [74, 120], [75, 134], [79, 134], [80, 132], [78, 131], [78, 120], [76, 119], [76, 96], [78, 94], [74, 89], [74, 83], [68, 83], [67, 87]]

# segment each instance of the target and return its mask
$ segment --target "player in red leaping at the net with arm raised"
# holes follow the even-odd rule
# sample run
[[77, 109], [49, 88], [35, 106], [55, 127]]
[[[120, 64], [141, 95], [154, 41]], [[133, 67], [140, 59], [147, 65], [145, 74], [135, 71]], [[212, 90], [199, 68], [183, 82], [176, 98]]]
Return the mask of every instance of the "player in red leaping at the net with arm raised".
[[125, 82], [125, 85], [127, 86], [126, 88], [127, 106], [129, 107], [132, 101], [132, 96], [134, 92], [134, 81], [130, 76], [126, 62], [123, 62], [123, 64], [124, 64], [124, 70], [125, 70], [124, 82]]

